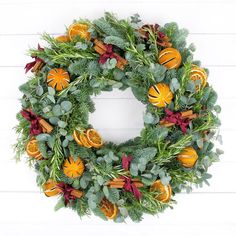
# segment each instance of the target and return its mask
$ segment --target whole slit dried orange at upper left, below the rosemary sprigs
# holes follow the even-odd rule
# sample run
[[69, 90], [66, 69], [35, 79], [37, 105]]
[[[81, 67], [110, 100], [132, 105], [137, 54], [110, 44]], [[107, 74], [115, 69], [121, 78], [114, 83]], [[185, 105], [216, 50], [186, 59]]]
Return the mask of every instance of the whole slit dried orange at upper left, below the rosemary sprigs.
[[48, 72], [47, 83], [48, 86], [61, 91], [69, 86], [70, 76], [67, 71], [62, 68], [54, 68]]

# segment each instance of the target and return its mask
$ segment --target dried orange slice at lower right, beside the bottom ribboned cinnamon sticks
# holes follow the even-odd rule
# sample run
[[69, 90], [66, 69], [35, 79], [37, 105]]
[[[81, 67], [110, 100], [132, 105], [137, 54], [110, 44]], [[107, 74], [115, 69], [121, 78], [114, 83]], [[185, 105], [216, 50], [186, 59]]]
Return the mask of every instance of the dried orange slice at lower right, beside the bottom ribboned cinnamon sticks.
[[159, 194], [155, 198], [161, 202], [168, 202], [172, 194], [171, 186], [164, 185], [161, 180], [156, 180], [150, 187], [150, 191], [158, 191]]

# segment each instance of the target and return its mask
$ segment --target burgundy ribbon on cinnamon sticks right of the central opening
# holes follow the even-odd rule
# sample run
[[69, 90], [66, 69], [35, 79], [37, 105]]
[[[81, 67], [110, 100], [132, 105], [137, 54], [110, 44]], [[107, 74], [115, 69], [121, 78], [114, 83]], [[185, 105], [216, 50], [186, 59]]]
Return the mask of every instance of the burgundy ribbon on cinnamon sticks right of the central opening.
[[183, 118], [180, 112], [174, 113], [167, 108], [165, 109], [165, 113], [166, 117], [164, 118], [164, 121], [168, 121], [174, 123], [175, 125], [178, 125], [184, 134], [187, 132], [187, 126], [190, 123], [190, 120], [188, 118]]

